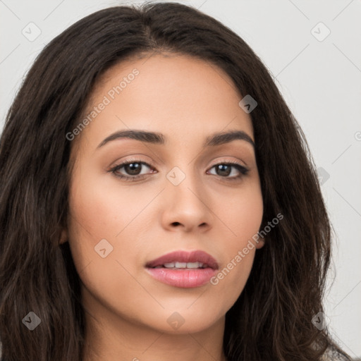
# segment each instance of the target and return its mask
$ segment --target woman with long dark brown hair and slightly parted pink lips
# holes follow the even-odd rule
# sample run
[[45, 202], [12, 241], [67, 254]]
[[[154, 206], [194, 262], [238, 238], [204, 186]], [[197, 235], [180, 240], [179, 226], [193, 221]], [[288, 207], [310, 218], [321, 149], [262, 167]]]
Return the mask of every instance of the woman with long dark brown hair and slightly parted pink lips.
[[3, 361], [350, 360], [305, 137], [243, 39], [116, 6], [45, 47], [0, 147]]

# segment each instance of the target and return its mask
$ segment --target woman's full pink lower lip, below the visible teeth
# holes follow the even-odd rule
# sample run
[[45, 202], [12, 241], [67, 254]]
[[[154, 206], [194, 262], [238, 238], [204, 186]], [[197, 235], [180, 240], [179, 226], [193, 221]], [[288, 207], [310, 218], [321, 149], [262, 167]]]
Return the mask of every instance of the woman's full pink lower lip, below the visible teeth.
[[194, 288], [204, 286], [216, 274], [212, 268], [203, 269], [166, 269], [166, 268], [149, 268], [147, 271], [154, 279], [169, 286], [179, 288]]

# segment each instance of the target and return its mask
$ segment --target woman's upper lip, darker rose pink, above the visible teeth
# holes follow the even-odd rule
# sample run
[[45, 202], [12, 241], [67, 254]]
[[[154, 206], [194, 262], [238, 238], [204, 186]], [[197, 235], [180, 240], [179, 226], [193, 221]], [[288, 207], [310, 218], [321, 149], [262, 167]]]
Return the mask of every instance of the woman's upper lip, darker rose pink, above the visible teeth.
[[185, 252], [183, 250], [178, 250], [175, 252], [167, 253], [157, 259], [146, 264], [146, 267], [157, 267], [165, 263], [171, 262], [202, 262], [203, 264], [208, 264], [212, 269], [218, 269], [218, 264], [216, 259], [209, 255], [207, 252], [196, 250], [192, 252]]

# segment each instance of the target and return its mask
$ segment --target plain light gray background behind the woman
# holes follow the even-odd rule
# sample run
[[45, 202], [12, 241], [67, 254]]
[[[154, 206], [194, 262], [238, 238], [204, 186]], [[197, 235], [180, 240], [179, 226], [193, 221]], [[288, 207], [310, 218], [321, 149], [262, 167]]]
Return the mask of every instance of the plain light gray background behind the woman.
[[[141, 2], [0, 0], [0, 130], [44, 44], [94, 11]], [[341, 347], [360, 357], [361, 1], [178, 2], [214, 16], [250, 44], [304, 130], [315, 164], [324, 169], [322, 191], [337, 233], [326, 317]], [[41, 30], [32, 42], [22, 33], [36, 34], [30, 22]], [[331, 31], [325, 39], [328, 30], [319, 22]]]

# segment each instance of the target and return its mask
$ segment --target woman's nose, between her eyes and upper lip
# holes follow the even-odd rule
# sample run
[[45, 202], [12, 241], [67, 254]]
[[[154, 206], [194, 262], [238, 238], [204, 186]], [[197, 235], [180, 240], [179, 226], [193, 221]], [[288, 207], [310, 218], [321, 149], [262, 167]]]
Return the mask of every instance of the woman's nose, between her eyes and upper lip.
[[[212, 197], [196, 175], [183, 173], [182, 176], [182, 173], [179, 170], [178, 173], [170, 172], [166, 181], [161, 207], [162, 226], [169, 231], [208, 231], [214, 221]], [[183, 181], [176, 185], [171, 178], [174, 175]]]

